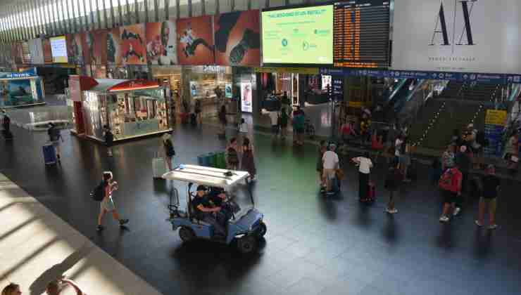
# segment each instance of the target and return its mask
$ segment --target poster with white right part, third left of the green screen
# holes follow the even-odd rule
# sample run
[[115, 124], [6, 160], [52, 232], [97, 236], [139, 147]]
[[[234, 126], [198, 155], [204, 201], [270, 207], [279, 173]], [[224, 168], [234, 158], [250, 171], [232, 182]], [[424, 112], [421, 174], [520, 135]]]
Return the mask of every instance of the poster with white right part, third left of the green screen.
[[149, 65], [177, 64], [177, 32], [175, 22], [146, 24], [146, 60]]

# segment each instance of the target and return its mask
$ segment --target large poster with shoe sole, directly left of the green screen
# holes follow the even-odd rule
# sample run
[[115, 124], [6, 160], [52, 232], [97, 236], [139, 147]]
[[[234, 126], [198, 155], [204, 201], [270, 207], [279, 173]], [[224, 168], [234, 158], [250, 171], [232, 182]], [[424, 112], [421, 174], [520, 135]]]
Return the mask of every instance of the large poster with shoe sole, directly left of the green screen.
[[258, 11], [234, 11], [214, 18], [215, 63], [249, 65], [261, 63], [261, 34]]

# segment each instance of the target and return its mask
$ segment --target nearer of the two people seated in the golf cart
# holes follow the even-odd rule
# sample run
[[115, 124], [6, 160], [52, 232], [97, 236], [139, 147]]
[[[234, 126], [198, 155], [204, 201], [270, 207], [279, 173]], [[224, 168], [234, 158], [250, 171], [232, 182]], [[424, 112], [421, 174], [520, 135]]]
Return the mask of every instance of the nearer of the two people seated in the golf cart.
[[210, 202], [208, 195], [206, 194], [207, 188], [204, 185], [197, 187], [196, 197], [192, 199], [192, 206], [194, 208], [194, 214], [200, 221], [210, 223], [215, 228], [215, 235], [226, 236], [226, 229], [223, 218], [220, 218], [221, 207], [213, 206]]

